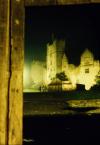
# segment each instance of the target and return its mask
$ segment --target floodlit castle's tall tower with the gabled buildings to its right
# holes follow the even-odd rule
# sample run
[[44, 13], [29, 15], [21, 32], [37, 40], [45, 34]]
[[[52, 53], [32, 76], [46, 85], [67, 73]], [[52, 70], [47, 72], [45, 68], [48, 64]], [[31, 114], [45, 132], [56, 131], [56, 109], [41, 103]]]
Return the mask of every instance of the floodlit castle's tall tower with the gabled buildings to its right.
[[81, 55], [79, 66], [69, 64], [65, 54], [64, 40], [54, 40], [52, 44], [47, 44], [46, 61], [47, 84], [52, 83], [57, 73], [64, 72], [72, 87], [83, 84], [85, 89], [89, 90], [96, 84], [96, 76], [100, 72], [100, 62], [94, 60], [94, 56], [89, 49], [86, 49]]

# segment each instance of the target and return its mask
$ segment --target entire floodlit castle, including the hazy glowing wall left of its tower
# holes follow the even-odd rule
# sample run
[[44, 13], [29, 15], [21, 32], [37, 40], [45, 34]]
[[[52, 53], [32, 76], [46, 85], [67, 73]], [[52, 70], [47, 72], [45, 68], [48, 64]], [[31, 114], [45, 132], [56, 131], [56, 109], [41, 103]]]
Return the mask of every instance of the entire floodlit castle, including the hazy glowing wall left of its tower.
[[[100, 63], [94, 60], [93, 54], [86, 49], [80, 58], [80, 65], [75, 66], [69, 64], [67, 56], [64, 52], [65, 41], [53, 41], [52, 44], [47, 44], [46, 62], [33, 61], [31, 65], [31, 72], [26, 66], [24, 69], [24, 88], [45, 85], [57, 80], [56, 74], [65, 72], [68, 81], [64, 89], [67, 87], [76, 88], [77, 84], [85, 85], [85, 89], [89, 90], [96, 84], [96, 76], [100, 71]], [[27, 78], [27, 79], [26, 79]]]

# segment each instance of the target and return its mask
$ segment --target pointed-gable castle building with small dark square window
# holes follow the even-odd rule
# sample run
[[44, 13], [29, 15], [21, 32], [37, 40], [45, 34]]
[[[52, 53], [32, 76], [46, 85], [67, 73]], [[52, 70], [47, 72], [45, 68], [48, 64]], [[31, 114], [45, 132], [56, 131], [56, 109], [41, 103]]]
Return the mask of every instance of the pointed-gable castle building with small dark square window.
[[80, 73], [78, 76], [79, 83], [85, 84], [85, 89], [89, 90], [96, 84], [95, 77], [99, 70], [99, 61], [94, 60], [93, 54], [86, 49], [81, 56]]

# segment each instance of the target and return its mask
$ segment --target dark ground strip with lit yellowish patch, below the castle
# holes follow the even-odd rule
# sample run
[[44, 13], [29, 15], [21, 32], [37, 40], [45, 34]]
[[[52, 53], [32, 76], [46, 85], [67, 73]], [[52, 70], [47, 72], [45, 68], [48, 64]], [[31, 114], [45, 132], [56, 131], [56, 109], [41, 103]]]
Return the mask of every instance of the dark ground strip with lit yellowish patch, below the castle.
[[100, 113], [99, 90], [24, 93], [24, 115]]

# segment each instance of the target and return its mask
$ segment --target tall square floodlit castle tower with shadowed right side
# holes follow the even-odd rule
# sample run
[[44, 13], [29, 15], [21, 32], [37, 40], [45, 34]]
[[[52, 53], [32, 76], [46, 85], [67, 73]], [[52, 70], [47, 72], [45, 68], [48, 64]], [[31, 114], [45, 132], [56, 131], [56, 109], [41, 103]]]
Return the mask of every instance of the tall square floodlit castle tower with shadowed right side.
[[62, 72], [62, 58], [65, 49], [65, 40], [54, 40], [47, 44], [47, 84], [49, 84], [57, 73]]

